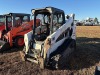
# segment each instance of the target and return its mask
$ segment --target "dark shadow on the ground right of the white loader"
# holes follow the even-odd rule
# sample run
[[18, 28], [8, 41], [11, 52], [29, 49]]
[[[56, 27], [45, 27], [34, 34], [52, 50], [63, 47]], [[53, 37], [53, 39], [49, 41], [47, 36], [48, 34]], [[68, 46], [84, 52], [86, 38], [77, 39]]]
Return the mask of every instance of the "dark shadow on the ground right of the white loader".
[[76, 51], [69, 56], [67, 70], [90, 68], [100, 62], [100, 38], [77, 38]]

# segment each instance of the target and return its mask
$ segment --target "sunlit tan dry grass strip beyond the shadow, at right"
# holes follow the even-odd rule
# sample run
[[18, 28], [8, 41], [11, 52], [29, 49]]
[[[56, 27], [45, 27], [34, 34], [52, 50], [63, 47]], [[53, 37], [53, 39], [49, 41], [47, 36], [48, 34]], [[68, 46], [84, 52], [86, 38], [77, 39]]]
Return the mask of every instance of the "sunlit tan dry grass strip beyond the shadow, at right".
[[100, 26], [77, 26], [77, 37], [100, 38]]

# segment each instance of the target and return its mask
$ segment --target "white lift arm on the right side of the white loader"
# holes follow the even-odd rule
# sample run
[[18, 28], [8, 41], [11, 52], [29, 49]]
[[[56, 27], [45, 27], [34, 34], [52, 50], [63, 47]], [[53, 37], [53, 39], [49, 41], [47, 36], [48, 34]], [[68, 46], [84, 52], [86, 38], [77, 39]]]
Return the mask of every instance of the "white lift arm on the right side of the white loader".
[[[74, 34], [75, 32], [75, 26], [74, 26], [74, 14], [71, 14], [69, 16], [69, 19], [66, 21], [64, 25], [62, 25], [56, 32], [54, 32], [52, 35], [48, 36], [44, 43], [44, 51], [47, 53], [47, 57], [49, 58], [49, 55], [54, 52], [58, 46], [64, 42], [65, 39], [71, 37], [72, 39], [76, 39], [76, 35]], [[72, 25], [73, 24], [73, 25]], [[72, 35], [70, 36], [70, 30], [72, 28]], [[63, 37], [62, 37], [63, 36]], [[61, 39], [62, 38], [62, 39]], [[49, 44], [47, 44], [49, 42]], [[49, 48], [48, 48], [48, 47]], [[52, 48], [50, 48], [52, 47]], [[44, 55], [45, 58], [46, 55]]]

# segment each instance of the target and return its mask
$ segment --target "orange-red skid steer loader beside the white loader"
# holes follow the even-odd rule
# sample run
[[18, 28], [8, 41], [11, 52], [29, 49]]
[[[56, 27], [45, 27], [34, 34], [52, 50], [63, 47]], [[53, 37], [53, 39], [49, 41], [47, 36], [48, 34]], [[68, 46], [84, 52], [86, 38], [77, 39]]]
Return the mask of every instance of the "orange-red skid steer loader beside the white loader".
[[24, 34], [31, 31], [33, 26], [30, 14], [8, 13], [4, 14], [4, 17], [4, 29], [0, 30], [0, 51], [7, 50], [12, 46], [24, 46]]

